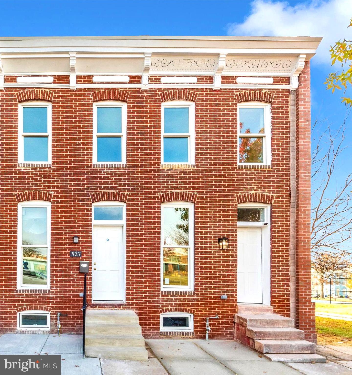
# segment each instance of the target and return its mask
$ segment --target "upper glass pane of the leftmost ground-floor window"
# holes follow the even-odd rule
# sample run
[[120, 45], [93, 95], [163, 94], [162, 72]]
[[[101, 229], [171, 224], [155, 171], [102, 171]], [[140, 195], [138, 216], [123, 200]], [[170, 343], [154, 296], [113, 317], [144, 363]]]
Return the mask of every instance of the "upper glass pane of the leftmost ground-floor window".
[[46, 207], [22, 208], [22, 245], [47, 245]]

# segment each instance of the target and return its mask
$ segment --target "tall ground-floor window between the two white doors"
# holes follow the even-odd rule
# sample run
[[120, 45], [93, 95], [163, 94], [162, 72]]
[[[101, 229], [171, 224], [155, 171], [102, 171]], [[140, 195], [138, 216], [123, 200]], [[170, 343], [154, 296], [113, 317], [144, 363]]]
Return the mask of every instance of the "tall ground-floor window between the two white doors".
[[193, 204], [162, 204], [161, 289], [193, 290]]

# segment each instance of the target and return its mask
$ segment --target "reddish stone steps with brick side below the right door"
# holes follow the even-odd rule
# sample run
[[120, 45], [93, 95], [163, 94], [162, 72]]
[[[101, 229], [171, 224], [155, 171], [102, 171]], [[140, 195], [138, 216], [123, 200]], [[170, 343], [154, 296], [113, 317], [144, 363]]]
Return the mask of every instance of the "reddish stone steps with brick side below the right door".
[[239, 305], [235, 314], [235, 337], [276, 362], [326, 362], [315, 353], [316, 345], [304, 340], [294, 320], [273, 314], [271, 306]]

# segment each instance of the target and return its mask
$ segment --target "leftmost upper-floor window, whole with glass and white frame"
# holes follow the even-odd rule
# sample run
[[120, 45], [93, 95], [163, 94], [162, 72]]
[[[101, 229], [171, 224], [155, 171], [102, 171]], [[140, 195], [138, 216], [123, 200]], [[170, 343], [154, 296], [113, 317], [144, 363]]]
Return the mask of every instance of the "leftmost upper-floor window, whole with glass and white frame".
[[51, 103], [19, 104], [18, 162], [51, 163]]

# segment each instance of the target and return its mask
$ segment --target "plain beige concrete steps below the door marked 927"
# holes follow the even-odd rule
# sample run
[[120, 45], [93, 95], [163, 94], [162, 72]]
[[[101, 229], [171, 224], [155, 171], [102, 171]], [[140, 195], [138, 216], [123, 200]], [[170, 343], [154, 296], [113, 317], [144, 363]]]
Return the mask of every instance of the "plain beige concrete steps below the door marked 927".
[[138, 315], [132, 310], [87, 309], [85, 356], [147, 361]]

